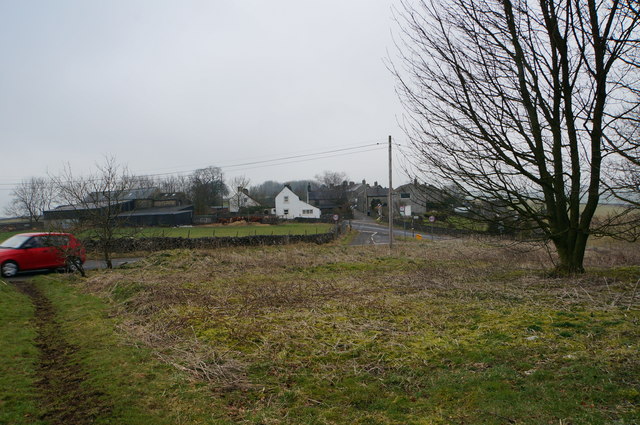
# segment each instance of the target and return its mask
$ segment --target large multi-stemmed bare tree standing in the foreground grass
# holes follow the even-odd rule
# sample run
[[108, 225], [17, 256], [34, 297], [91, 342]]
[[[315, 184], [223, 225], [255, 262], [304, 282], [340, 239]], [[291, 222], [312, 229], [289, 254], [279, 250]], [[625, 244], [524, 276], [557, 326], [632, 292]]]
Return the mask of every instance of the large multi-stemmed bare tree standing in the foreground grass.
[[392, 69], [414, 169], [583, 272], [607, 141], [638, 107], [639, 19], [637, 0], [403, 1]]

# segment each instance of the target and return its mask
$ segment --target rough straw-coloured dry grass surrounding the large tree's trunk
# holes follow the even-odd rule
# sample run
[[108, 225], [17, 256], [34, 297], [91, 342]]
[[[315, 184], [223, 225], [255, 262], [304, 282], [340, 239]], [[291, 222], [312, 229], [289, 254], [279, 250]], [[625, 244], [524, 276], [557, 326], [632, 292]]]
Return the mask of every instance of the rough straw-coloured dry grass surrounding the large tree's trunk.
[[[369, 422], [358, 422], [357, 409], [349, 409], [431, 388], [430, 398], [414, 406], [421, 414], [437, 402], [453, 422], [479, 409], [483, 423], [498, 423], [486, 419], [495, 419], [496, 411], [515, 415], [518, 423], [541, 423], [518, 416], [509, 403], [482, 407], [461, 394], [475, 377], [491, 382], [502, 370], [518, 385], [534, 385], [537, 374], [566, 363], [563, 356], [592, 356], [616, 379], [616, 362], [637, 350], [636, 248], [590, 250], [590, 272], [565, 279], [548, 277], [553, 260], [544, 248], [491, 241], [405, 243], [391, 255], [386, 247], [337, 244], [173, 251], [96, 273], [86, 285], [112, 302], [132, 342], [230, 394], [233, 422], [306, 423], [307, 408], [314, 407], [326, 410], [318, 423], [347, 417], [410, 423], [408, 411], [394, 416], [374, 408], [367, 410], [373, 416], [362, 416]], [[632, 345], [620, 345], [629, 338]], [[637, 359], [628, 367], [638, 369]], [[461, 370], [469, 375], [458, 376]], [[448, 381], [438, 384], [445, 376]], [[500, 375], [499, 382], [504, 379]], [[545, 385], [562, 399], [553, 382]], [[637, 379], [629, 385], [637, 386]], [[439, 391], [450, 394], [449, 401], [438, 401], [433, 394]], [[533, 414], [544, 402], [518, 409]], [[545, 421], [570, 416], [565, 401], [557, 403]], [[589, 416], [593, 423], [628, 417], [628, 401], [608, 403], [608, 410]], [[336, 412], [342, 422], [331, 419]], [[582, 417], [576, 412], [571, 415]]]

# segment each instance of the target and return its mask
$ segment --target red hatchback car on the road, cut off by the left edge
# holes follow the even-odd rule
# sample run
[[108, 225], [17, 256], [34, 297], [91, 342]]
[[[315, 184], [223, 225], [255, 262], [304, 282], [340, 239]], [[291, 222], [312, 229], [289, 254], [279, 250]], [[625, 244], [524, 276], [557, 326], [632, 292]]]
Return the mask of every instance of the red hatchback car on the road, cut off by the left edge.
[[84, 261], [84, 247], [69, 233], [20, 233], [0, 243], [4, 277], [24, 270], [74, 269]]

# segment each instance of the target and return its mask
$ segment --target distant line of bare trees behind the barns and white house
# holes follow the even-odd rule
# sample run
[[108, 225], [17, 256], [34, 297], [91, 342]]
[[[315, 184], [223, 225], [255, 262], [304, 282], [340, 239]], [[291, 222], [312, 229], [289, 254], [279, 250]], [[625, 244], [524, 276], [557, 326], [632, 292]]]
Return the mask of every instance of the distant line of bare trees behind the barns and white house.
[[[325, 171], [315, 179], [286, 182], [301, 198], [309, 186], [313, 189], [323, 185], [341, 184], [346, 173]], [[28, 219], [31, 224], [42, 219], [44, 211], [60, 205], [113, 203], [122, 195], [135, 189], [154, 188], [164, 193], [183, 194], [194, 208], [194, 214], [206, 215], [211, 206], [222, 206], [228, 197], [240, 197], [248, 189], [250, 196], [265, 206], [273, 206], [275, 196], [282, 190], [284, 182], [268, 180], [251, 185], [246, 176], [225, 179], [221, 168], [209, 166], [186, 175], [138, 176], [114, 157], [107, 157], [95, 165], [89, 175], [76, 174], [69, 165], [57, 174], [47, 177], [31, 177], [16, 185], [12, 200], [5, 213], [13, 217]], [[240, 204], [236, 202], [236, 205]]]

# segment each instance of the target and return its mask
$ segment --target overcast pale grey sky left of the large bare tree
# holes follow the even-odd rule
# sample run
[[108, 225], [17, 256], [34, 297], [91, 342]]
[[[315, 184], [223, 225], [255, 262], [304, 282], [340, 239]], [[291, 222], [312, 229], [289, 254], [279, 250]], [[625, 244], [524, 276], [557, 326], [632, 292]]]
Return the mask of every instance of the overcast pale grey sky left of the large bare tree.
[[392, 3], [0, 0], [0, 215], [12, 184], [105, 155], [136, 174], [386, 181], [383, 147], [232, 166], [402, 141]]

